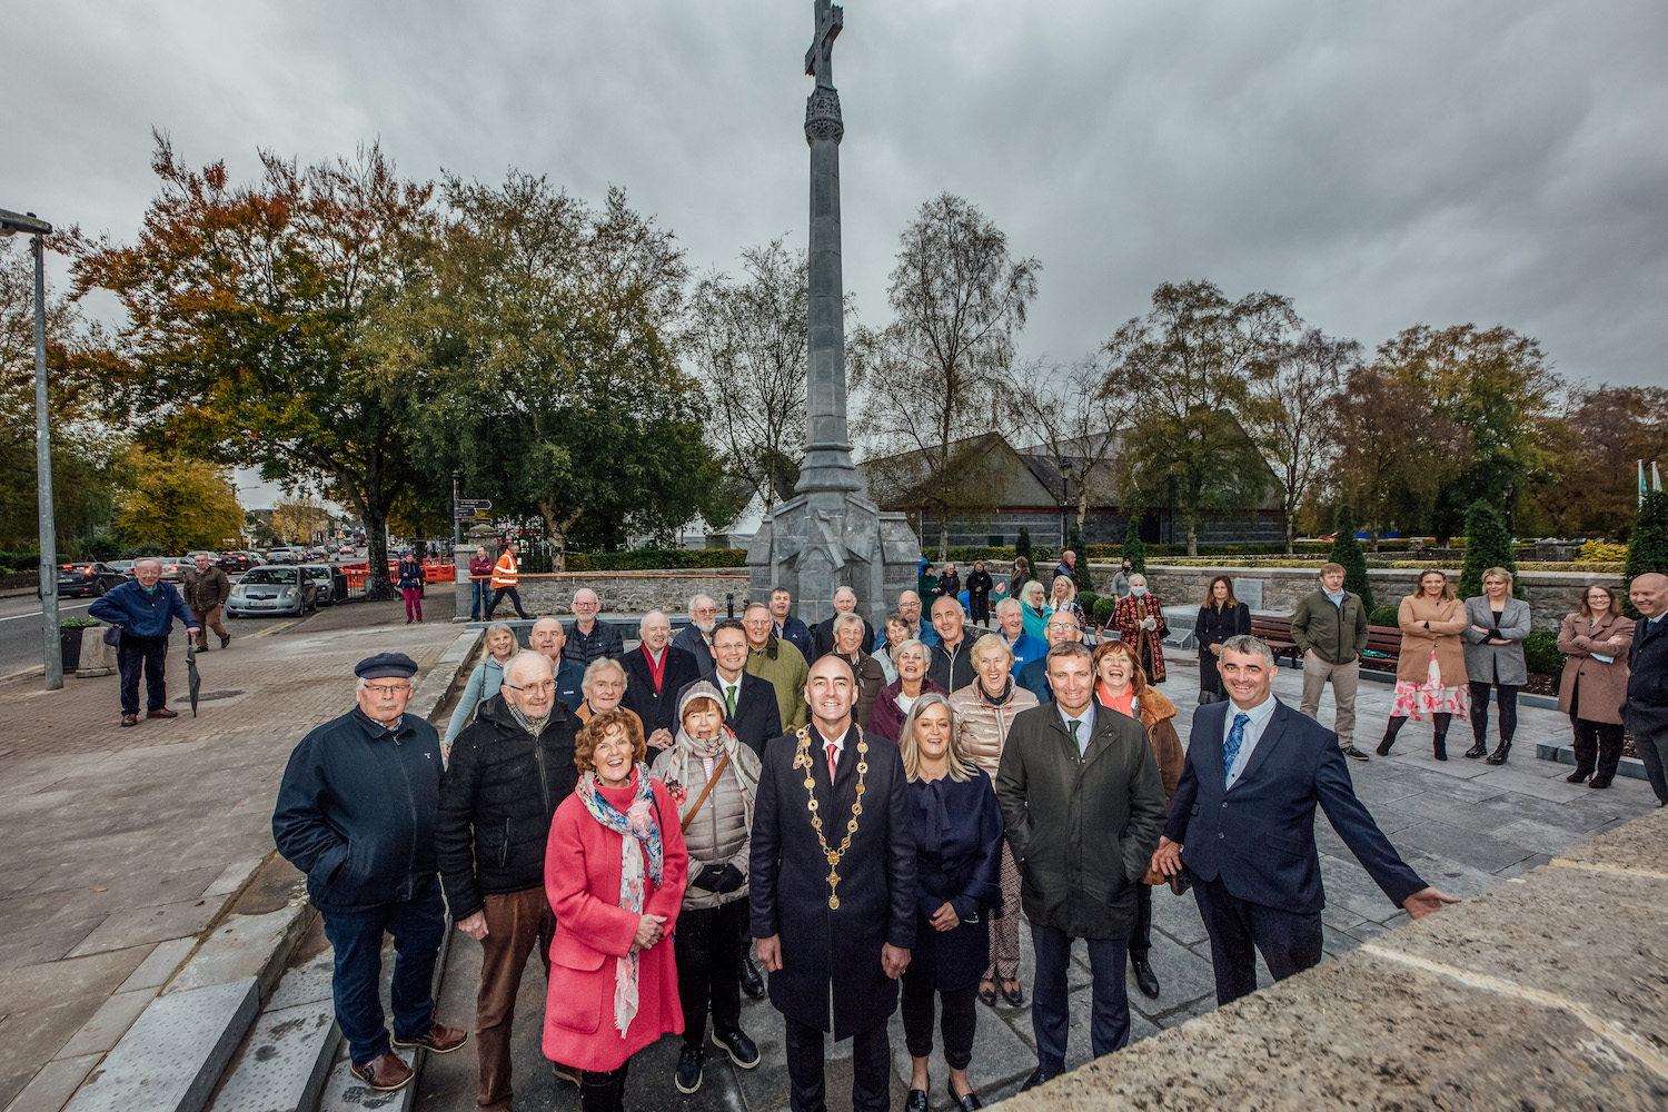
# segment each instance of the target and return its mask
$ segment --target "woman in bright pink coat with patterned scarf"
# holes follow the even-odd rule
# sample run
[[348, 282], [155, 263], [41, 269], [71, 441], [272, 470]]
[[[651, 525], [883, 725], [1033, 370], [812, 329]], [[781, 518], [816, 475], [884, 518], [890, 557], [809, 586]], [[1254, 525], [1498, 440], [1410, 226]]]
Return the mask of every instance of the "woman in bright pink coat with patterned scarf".
[[689, 854], [646, 755], [629, 712], [592, 715], [574, 749], [579, 787], [555, 809], [544, 855], [555, 910], [544, 1055], [585, 1072], [585, 1112], [619, 1112], [631, 1055], [684, 1030], [672, 934]]

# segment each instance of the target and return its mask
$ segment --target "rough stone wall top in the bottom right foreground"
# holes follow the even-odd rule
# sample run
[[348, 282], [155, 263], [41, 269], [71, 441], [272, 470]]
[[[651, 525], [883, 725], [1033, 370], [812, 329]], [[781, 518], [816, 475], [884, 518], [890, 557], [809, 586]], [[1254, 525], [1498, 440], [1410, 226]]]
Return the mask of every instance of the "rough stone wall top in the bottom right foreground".
[[1009, 1107], [1665, 1109], [1665, 970], [1658, 810]]

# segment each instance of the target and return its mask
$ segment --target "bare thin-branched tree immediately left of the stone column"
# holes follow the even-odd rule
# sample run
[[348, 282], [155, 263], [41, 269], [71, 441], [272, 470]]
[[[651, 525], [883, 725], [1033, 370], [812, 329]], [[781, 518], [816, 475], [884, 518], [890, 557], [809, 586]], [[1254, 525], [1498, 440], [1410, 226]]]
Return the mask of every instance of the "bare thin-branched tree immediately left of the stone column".
[[707, 398], [707, 435], [764, 502], [794, 497], [806, 442], [806, 252], [782, 240], [742, 252], [746, 277], [711, 273], [689, 305], [687, 350]]

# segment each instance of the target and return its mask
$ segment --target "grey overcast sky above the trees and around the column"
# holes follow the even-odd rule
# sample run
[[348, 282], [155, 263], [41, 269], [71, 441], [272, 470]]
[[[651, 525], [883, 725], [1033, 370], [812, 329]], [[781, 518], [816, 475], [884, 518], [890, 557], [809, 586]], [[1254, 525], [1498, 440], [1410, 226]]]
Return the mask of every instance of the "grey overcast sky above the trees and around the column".
[[[240, 178], [257, 147], [380, 138], [417, 178], [620, 185], [697, 272], [806, 242], [812, 0], [77, 0], [5, 28], [0, 207], [118, 240], [157, 127]], [[1568, 377], [1668, 382], [1661, 0], [851, 0], [834, 75], [866, 322], [949, 190], [1042, 262], [1024, 355], [1076, 358], [1209, 278], [1368, 348], [1505, 323]]]

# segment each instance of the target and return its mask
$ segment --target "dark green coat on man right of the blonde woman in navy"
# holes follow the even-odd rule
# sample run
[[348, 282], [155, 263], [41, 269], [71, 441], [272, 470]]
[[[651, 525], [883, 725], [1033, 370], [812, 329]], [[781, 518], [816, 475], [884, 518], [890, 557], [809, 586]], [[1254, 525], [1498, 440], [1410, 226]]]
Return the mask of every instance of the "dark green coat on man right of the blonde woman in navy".
[[1096, 705], [1081, 754], [1059, 707], [1022, 710], [996, 772], [1026, 919], [1073, 939], [1126, 939], [1136, 885], [1164, 829], [1164, 782], [1148, 732]]

